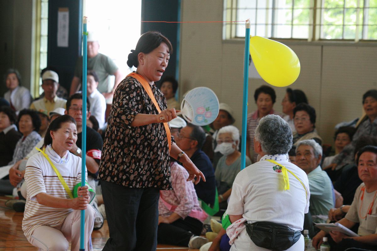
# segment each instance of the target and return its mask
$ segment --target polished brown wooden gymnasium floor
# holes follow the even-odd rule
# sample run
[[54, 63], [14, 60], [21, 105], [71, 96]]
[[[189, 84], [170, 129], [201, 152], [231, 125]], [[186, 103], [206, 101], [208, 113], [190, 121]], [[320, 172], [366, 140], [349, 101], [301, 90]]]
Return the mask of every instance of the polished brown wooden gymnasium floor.
[[[17, 213], [5, 206], [5, 201], [8, 197], [0, 196], [0, 250], [6, 251], [37, 251], [38, 249], [32, 246], [26, 237], [23, 235], [21, 229], [23, 213]], [[109, 238], [109, 228], [105, 221], [104, 226], [92, 233], [93, 250], [102, 250], [107, 239]], [[199, 249], [190, 249], [179, 246], [157, 245], [157, 250], [162, 251], [198, 251]]]

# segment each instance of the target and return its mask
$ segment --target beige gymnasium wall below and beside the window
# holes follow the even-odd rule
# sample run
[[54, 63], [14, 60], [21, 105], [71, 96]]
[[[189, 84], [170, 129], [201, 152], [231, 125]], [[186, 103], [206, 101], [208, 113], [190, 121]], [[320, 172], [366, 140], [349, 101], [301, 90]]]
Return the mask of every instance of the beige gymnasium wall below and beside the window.
[[[223, 1], [182, 1], [182, 21], [223, 20]], [[290, 87], [305, 91], [316, 109], [316, 127], [333, 144], [334, 126], [362, 114], [362, 95], [377, 88], [377, 42], [306, 42], [281, 40], [300, 59], [301, 72]], [[179, 94], [207, 86], [235, 112], [241, 129], [244, 40], [222, 40], [221, 23], [182, 23]], [[256, 110], [254, 90], [266, 84], [249, 79], [248, 113]], [[274, 109], [281, 112], [286, 88], [274, 87]]]

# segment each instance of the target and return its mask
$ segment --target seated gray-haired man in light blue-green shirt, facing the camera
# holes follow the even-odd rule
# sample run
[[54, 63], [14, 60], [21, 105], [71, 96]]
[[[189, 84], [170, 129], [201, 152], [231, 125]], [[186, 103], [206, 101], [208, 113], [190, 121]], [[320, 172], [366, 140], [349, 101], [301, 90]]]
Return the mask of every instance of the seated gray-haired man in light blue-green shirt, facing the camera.
[[[300, 141], [296, 148], [296, 163], [308, 175], [310, 189], [310, 214], [305, 215], [304, 228], [309, 230], [309, 235], [314, 236], [311, 216], [327, 215], [334, 207], [333, 186], [331, 180], [322, 170], [322, 147], [314, 141], [307, 139]], [[325, 223], [325, 220], [316, 218], [314, 222]]]

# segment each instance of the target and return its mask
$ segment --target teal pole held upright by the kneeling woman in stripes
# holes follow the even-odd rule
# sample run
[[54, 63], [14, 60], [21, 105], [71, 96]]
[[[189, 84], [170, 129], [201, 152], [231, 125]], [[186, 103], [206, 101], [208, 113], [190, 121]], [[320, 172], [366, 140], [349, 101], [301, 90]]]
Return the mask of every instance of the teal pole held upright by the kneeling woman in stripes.
[[[86, 63], [87, 63], [87, 17], [83, 17], [83, 132], [81, 135], [81, 186], [85, 186], [86, 173]], [[88, 205], [89, 206], [89, 205]], [[85, 251], [85, 210], [80, 215], [80, 251]], [[88, 247], [89, 248], [89, 247]]]

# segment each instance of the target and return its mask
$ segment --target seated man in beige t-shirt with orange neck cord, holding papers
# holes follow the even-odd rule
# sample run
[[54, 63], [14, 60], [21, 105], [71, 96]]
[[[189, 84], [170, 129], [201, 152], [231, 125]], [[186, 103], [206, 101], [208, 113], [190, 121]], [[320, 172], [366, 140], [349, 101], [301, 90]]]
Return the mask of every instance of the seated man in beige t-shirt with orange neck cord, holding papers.
[[[337, 231], [331, 231], [331, 239], [337, 243], [334, 250], [360, 248], [377, 250], [377, 147], [363, 147], [357, 154], [357, 170], [363, 183], [356, 190], [352, 204], [346, 208], [347, 214], [338, 222], [351, 229], [360, 223], [357, 237], [349, 237]], [[319, 248], [326, 232], [320, 231], [313, 238], [313, 246]], [[330, 243], [331, 244], [331, 243]]]

